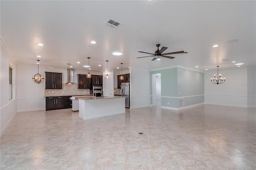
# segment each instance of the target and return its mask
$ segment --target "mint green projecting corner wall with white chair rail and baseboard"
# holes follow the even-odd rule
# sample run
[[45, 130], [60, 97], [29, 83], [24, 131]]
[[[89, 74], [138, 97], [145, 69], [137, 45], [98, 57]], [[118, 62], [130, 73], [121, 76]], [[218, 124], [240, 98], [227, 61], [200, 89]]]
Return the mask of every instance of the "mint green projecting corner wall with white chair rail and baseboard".
[[[151, 71], [161, 73], [161, 107], [180, 110], [204, 103], [204, 73], [181, 66]], [[179, 105], [179, 99], [183, 99]]]

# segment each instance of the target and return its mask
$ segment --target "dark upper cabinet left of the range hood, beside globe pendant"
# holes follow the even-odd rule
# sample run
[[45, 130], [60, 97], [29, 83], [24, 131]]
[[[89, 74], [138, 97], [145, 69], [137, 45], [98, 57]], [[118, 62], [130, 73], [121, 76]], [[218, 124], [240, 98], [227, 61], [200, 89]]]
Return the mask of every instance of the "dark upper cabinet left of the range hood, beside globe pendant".
[[62, 73], [45, 72], [45, 89], [62, 89]]

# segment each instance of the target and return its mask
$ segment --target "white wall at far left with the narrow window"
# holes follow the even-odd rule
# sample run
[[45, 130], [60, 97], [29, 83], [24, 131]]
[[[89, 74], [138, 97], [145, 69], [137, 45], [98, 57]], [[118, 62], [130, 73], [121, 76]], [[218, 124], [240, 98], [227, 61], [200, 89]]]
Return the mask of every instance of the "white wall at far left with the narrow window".
[[[1, 54], [0, 54], [0, 135], [2, 136], [6, 127], [17, 113], [17, 68], [11, 60], [11, 54], [5, 46], [1, 38]], [[12, 100], [9, 100], [9, 67], [12, 68]]]

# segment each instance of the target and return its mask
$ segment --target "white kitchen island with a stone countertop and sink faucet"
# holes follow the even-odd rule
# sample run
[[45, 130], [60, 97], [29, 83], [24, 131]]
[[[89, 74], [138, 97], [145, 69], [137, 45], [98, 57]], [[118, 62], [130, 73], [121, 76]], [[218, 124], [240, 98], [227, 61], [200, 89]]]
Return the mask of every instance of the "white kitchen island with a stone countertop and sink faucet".
[[87, 120], [125, 113], [125, 98], [123, 96], [79, 98], [78, 116]]

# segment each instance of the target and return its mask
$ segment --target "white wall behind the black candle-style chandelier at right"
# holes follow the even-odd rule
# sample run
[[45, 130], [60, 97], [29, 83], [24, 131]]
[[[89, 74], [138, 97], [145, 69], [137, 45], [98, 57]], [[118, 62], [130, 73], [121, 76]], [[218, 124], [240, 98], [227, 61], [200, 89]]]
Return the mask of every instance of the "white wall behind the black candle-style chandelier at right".
[[204, 103], [211, 105], [225, 105], [247, 107], [247, 68], [229, 70], [219, 69], [219, 74], [226, 78], [223, 84], [212, 84], [210, 79], [217, 69], [204, 73]]

